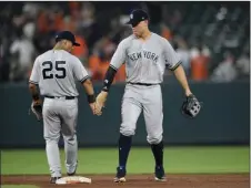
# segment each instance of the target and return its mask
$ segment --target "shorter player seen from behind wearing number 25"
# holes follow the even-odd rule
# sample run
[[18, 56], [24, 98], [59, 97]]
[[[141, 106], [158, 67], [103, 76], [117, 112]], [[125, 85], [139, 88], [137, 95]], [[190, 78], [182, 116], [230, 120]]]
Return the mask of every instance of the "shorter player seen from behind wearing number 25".
[[[43, 118], [43, 137], [51, 173], [51, 184], [61, 178], [61, 165], [58, 142], [60, 133], [64, 139], [66, 168], [73, 176], [78, 165], [78, 142], [76, 126], [78, 118], [78, 91], [76, 81], [86, 88], [88, 103], [97, 114], [96, 96], [87, 70], [78, 58], [70, 52], [80, 46], [70, 31], [62, 31], [56, 36], [52, 50], [39, 55], [33, 64], [29, 80], [29, 90], [33, 102], [32, 112], [38, 119]], [[44, 96], [43, 105], [37, 90]], [[40, 114], [42, 112], [42, 114]]]

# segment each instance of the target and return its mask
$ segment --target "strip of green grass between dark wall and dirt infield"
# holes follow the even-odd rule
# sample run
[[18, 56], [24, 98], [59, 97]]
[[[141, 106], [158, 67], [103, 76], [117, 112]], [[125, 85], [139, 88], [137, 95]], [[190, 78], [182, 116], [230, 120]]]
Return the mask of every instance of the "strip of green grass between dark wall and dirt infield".
[[[61, 155], [62, 173], [66, 173], [63, 160]], [[2, 150], [1, 163], [3, 175], [49, 174], [42, 149]], [[116, 148], [79, 150], [79, 174], [114, 174], [117, 165]], [[153, 167], [150, 148], [132, 147], [128, 159], [130, 174], [153, 173]], [[249, 147], [167, 147], [164, 167], [169, 174], [249, 173]]]

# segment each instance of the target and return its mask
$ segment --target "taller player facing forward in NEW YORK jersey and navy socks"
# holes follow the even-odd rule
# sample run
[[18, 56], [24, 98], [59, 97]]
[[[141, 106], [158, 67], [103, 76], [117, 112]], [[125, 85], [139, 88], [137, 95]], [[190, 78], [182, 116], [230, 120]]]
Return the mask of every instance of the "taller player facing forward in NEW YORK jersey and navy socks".
[[163, 112], [160, 84], [163, 81], [165, 66], [173, 71], [182, 85], [187, 102], [182, 112], [195, 117], [200, 112], [200, 103], [191, 93], [184, 70], [175, 51], [164, 38], [149, 31], [149, 15], [143, 10], [134, 10], [128, 22], [133, 34], [122, 40], [114, 52], [107, 71], [103, 88], [97, 96], [97, 103], [103, 106], [113, 77], [126, 63], [127, 84], [122, 98], [119, 137], [119, 166], [116, 182], [126, 181], [127, 160], [131, 148], [132, 136], [135, 133], [137, 121], [143, 111], [147, 140], [155, 160], [154, 179], [165, 181], [163, 167]]

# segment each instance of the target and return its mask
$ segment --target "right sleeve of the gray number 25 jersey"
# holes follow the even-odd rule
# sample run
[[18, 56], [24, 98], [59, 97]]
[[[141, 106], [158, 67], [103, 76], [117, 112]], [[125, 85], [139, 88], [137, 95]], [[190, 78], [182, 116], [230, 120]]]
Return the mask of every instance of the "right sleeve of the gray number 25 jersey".
[[84, 66], [82, 65], [81, 61], [78, 58], [74, 58], [73, 74], [76, 80], [81, 83], [89, 79], [87, 70], [84, 69]]

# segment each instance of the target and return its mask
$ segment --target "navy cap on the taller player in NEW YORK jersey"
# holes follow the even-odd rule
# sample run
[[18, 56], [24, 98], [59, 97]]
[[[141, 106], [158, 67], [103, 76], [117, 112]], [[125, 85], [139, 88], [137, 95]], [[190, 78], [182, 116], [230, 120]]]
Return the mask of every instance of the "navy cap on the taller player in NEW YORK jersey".
[[141, 9], [137, 9], [130, 13], [130, 20], [127, 22], [127, 24], [135, 27], [139, 22], [144, 20], [149, 20], [148, 13]]

